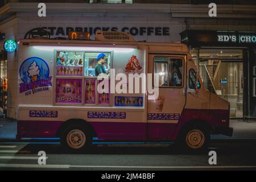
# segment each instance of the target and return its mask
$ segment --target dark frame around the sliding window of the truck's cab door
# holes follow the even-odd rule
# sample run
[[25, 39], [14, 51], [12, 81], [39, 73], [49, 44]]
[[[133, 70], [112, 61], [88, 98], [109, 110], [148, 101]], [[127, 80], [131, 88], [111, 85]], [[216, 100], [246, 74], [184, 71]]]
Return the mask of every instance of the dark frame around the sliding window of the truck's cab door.
[[152, 70], [152, 73], [153, 73], [153, 86], [154, 83], [155, 83], [155, 63], [166, 63], [166, 61], [155, 61], [155, 58], [156, 57], [166, 57], [168, 58], [168, 84], [170, 84], [170, 59], [181, 59], [182, 60], [182, 83], [181, 83], [181, 86], [158, 86], [158, 88], [183, 88], [184, 87], [184, 75], [185, 75], [185, 56], [186, 55], [168, 55], [168, 56], [162, 56], [162, 55], [155, 55], [153, 57], [153, 70]]

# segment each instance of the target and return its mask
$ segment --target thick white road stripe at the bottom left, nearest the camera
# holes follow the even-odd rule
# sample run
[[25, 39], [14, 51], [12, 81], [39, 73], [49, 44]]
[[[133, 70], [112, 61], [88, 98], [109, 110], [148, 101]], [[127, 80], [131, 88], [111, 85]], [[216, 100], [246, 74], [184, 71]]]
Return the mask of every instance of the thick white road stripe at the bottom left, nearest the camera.
[[0, 164], [0, 167], [7, 168], [69, 168], [69, 165], [55, 165], [55, 164]]

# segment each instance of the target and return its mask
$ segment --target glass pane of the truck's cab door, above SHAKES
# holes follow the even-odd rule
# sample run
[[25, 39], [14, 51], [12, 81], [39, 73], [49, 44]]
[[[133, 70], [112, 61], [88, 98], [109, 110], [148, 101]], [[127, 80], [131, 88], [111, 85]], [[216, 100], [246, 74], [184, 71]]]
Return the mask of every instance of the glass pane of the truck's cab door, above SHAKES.
[[183, 59], [154, 58], [154, 73], [159, 74], [159, 87], [180, 87], [183, 81]]

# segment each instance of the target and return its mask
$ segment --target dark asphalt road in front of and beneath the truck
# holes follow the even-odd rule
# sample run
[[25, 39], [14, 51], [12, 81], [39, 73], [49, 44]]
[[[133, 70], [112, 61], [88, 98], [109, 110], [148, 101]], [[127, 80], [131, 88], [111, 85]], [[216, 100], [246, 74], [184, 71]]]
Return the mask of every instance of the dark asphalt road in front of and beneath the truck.
[[[217, 165], [209, 165], [209, 151]], [[46, 165], [38, 152], [46, 152]], [[205, 152], [185, 153], [166, 145], [94, 146], [71, 154], [57, 143], [0, 142], [0, 170], [255, 170], [256, 140], [214, 140]]]

